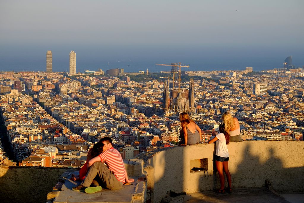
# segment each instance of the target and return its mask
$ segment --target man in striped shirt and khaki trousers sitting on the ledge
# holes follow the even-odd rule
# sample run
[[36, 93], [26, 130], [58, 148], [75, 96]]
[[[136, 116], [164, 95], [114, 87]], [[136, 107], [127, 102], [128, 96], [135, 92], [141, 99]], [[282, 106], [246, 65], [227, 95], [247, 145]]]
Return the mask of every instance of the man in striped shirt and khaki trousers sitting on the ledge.
[[[89, 187], [93, 180], [102, 183], [111, 190], [118, 190], [124, 183], [131, 183], [134, 179], [128, 179], [125, 165], [120, 153], [113, 148], [112, 139], [102, 138], [99, 142], [104, 144], [103, 152], [88, 161], [88, 173], [82, 183], [73, 187], [74, 191], [85, 191], [86, 193], [95, 193], [102, 190], [101, 186]], [[105, 161], [107, 168], [102, 161]]]

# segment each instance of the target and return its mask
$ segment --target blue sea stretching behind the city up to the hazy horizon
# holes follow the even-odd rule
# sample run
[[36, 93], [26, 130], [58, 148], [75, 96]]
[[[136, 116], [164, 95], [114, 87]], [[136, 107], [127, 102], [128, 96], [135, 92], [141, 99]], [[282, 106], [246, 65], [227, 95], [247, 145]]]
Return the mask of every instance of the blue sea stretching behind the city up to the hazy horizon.
[[[15, 57], [12, 50], [7, 53], [0, 50], [0, 71], [45, 71], [46, 70], [46, 51], [35, 50], [32, 53], [22, 50], [24, 54]], [[90, 51], [90, 50], [89, 50]], [[98, 68], [106, 71], [112, 68], [123, 68], [124, 72], [160, 72], [170, 71], [171, 66], [157, 66], [155, 64], [171, 64], [181, 62], [189, 65], [189, 68], [182, 68], [184, 71], [212, 71], [212, 70], [244, 70], [246, 67], [253, 67], [254, 71], [265, 69], [282, 68], [283, 62], [288, 55], [292, 55], [292, 65], [296, 67], [304, 66], [302, 51], [294, 54], [288, 52], [278, 52], [266, 55], [265, 51], [259, 53], [251, 52], [240, 54], [229, 51], [189, 51], [188, 53], [173, 53], [163, 51], [157, 53], [150, 51], [140, 54], [139, 52], [130, 53], [128, 50], [120, 52], [109, 51], [107, 53], [89, 52], [80, 49], [76, 51], [77, 72], [84, 70], [97, 71]], [[52, 50], [53, 52], [53, 71], [69, 71], [69, 55], [67, 50]], [[98, 53], [98, 54], [95, 54]]]

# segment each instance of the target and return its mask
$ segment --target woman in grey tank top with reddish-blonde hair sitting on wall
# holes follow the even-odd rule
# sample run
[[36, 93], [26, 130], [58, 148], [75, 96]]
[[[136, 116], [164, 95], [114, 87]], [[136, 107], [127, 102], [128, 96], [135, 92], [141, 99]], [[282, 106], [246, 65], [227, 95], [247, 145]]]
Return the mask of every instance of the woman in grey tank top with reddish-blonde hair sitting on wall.
[[179, 120], [181, 121], [181, 128], [184, 134], [184, 138], [181, 138], [181, 145], [195, 145], [199, 144], [202, 136], [202, 131], [194, 121], [189, 119], [189, 115], [186, 112], [179, 114]]

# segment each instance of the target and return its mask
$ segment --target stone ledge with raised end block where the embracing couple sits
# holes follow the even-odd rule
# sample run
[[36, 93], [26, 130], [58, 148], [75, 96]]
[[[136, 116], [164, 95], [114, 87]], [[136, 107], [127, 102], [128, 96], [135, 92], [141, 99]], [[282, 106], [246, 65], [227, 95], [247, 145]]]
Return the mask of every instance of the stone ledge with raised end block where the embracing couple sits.
[[[128, 176], [135, 180], [132, 185], [123, 185], [119, 190], [102, 188], [101, 192], [94, 194], [76, 192], [72, 190], [72, 187], [79, 185], [80, 181], [69, 180], [72, 172], [67, 171], [61, 175], [60, 181], [53, 188], [53, 191], [48, 194], [49, 202], [145, 202], [147, 195], [147, 173], [143, 171], [143, 160], [127, 159], [124, 160], [124, 163]], [[79, 171], [74, 171], [73, 173], [78, 175]]]

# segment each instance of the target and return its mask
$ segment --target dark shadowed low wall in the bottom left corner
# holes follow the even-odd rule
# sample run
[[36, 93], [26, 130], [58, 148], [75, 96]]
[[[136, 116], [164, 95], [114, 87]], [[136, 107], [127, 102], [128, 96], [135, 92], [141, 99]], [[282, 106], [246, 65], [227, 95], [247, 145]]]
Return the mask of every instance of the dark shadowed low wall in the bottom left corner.
[[1, 202], [46, 202], [65, 168], [0, 167]]

